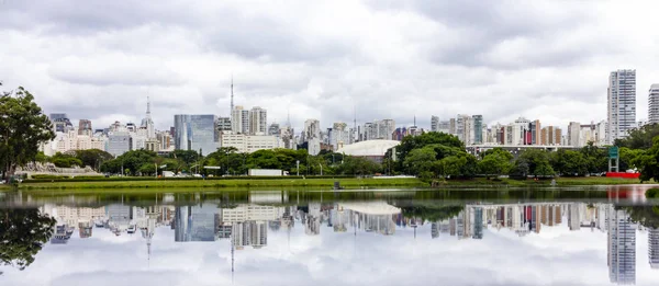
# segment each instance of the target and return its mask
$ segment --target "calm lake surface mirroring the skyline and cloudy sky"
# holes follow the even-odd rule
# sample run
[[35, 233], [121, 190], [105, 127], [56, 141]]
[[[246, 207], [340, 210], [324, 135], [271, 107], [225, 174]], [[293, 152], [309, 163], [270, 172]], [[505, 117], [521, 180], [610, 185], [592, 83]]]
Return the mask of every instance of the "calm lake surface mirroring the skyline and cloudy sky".
[[659, 285], [645, 188], [0, 193], [0, 285]]

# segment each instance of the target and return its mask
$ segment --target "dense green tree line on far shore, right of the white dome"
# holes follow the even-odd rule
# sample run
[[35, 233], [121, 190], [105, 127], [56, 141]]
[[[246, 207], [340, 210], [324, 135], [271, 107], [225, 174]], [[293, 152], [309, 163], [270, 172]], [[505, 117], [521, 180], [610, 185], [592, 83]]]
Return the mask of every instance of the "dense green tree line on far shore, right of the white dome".
[[[621, 148], [621, 170], [634, 167], [639, 152], [640, 150]], [[606, 148], [596, 147], [592, 142], [578, 150], [548, 151], [528, 148], [509, 151], [493, 148], [474, 156], [466, 151], [456, 136], [426, 133], [403, 138], [400, 146], [388, 151], [386, 163], [391, 165], [394, 174], [413, 174], [427, 180], [499, 175], [583, 176], [606, 172], [607, 156]]]

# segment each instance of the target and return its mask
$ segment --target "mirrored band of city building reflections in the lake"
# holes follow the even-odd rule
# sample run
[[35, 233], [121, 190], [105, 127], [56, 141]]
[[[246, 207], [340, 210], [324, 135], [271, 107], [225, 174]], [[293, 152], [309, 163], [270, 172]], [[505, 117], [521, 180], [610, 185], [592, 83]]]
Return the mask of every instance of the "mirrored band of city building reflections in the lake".
[[[639, 226], [632, 221], [627, 210], [616, 209], [613, 204], [474, 203], [459, 206], [455, 213], [428, 221], [409, 215], [405, 207], [395, 207], [383, 201], [309, 203], [297, 206], [288, 204], [288, 199], [284, 202], [281, 197], [281, 194], [264, 193], [248, 201], [261, 202], [260, 204], [231, 206], [223, 206], [222, 202], [148, 207], [123, 204], [69, 207], [46, 204], [41, 210], [57, 220], [52, 244], [66, 244], [76, 238], [75, 233], [79, 239], [89, 239], [101, 230], [111, 231], [115, 236], [138, 232], [149, 258], [155, 230], [160, 227], [171, 228], [176, 242], [231, 240], [232, 251], [246, 247], [266, 248], [269, 231], [288, 232], [290, 243], [290, 233], [297, 224], [302, 225], [303, 232], [309, 237], [320, 236], [322, 231], [394, 236], [396, 228], [416, 228], [429, 224], [431, 238], [434, 240], [487, 240], [488, 234], [502, 230], [524, 238], [558, 227], [570, 231], [600, 231], [607, 236], [610, 281], [617, 284], [636, 283], [636, 232]], [[647, 232], [649, 264], [651, 268], [659, 268], [659, 229], [649, 227]]]

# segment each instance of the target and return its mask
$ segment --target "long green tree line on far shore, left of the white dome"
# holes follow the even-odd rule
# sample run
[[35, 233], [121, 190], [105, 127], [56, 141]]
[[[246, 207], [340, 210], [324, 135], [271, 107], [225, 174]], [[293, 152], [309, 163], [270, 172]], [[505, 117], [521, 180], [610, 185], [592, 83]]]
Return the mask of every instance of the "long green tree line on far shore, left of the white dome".
[[161, 171], [244, 175], [249, 169], [279, 169], [291, 175], [372, 175], [382, 168], [381, 164], [364, 158], [328, 151], [319, 156], [309, 156], [304, 149], [271, 149], [246, 153], [238, 152], [233, 147], [222, 147], [206, 156], [201, 156], [194, 150], [175, 150], [167, 155], [133, 150], [104, 161], [100, 171], [125, 175], [156, 175], [156, 172], [161, 174]]

